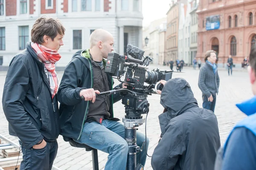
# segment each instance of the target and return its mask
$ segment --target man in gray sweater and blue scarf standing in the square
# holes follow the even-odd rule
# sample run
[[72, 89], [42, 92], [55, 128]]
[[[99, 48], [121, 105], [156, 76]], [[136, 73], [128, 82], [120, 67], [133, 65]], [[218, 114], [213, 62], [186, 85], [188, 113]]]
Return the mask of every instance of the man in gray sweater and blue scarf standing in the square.
[[209, 50], [205, 54], [205, 64], [200, 70], [198, 86], [203, 93], [203, 108], [214, 112], [216, 94], [220, 85], [220, 78], [216, 62], [216, 52]]

